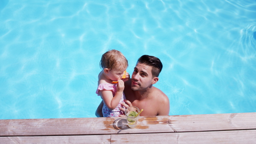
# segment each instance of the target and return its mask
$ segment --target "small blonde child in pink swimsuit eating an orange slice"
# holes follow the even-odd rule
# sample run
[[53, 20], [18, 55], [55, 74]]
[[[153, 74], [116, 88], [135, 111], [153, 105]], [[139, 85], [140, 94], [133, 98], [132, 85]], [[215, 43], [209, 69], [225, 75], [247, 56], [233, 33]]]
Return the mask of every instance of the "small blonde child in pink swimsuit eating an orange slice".
[[[120, 78], [128, 67], [128, 60], [121, 52], [113, 49], [102, 55], [100, 67], [102, 71], [98, 76], [96, 94], [100, 95], [104, 102], [102, 114], [104, 117], [118, 117], [122, 112], [119, 110], [120, 103], [123, 103], [125, 99], [123, 93], [125, 84]], [[118, 81], [118, 83], [112, 84], [113, 81]]]

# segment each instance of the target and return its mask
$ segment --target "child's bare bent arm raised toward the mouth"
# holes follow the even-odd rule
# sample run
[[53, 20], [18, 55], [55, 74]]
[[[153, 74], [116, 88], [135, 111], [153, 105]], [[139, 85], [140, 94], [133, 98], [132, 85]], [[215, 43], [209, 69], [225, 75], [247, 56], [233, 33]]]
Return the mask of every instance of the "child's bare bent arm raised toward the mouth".
[[108, 109], [113, 110], [117, 107], [122, 97], [124, 88], [125, 88], [124, 82], [119, 79], [118, 84], [116, 86], [116, 95], [114, 97], [110, 90], [99, 91], [99, 94], [101, 95], [104, 101], [104, 104], [108, 107]]

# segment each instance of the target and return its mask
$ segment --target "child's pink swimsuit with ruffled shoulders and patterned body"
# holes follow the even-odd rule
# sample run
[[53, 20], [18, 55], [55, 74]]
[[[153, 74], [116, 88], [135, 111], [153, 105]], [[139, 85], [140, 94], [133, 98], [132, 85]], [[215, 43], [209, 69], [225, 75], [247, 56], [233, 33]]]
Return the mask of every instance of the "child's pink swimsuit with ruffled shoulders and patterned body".
[[[96, 94], [99, 95], [99, 90], [102, 90], [102, 89], [111, 90], [113, 93], [113, 96], [115, 96], [115, 94], [116, 94], [116, 84], [99, 84]], [[103, 116], [104, 117], [118, 117], [119, 114], [122, 114], [122, 111], [119, 110], [119, 107], [123, 107], [120, 103], [124, 103], [124, 99], [125, 99], [125, 94], [123, 93], [122, 97], [119, 101], [119, 104], [113, 110], [108, 109], [108, 107], [105, 104], [103, 104], [103, 108], [102, 108]]]

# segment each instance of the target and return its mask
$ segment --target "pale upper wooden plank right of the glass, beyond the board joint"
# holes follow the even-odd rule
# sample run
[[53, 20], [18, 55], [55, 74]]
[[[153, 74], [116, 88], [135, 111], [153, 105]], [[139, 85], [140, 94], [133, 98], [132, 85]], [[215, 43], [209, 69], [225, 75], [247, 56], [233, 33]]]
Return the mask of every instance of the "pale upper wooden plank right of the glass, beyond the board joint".
[[256, 129], [256, 112], [173, 115], [170, 126], [176, 132], [214, 131], [214, 130], [250, 130]]

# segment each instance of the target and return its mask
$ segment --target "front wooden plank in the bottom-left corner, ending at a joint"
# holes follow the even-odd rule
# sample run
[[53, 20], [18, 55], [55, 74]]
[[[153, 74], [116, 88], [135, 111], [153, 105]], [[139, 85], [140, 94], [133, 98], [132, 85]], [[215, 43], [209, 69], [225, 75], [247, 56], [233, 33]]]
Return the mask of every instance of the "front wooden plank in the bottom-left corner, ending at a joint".
[[110, 144], [111, 135], [12, 136], [0, 137], [1, 144]]

